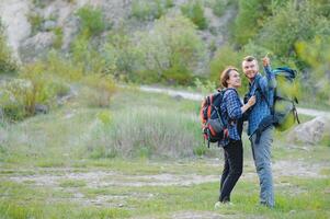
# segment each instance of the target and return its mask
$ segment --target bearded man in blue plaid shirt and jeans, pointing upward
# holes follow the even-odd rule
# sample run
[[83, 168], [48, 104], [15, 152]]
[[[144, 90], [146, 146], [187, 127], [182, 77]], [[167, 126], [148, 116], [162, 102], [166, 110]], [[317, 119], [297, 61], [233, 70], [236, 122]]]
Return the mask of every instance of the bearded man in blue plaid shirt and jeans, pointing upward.
[[266, 76], [259, 73], [258, 61], [252, 56], [243, 59], [242, 70], [249, 80], [249, 92], [246, 96], [257, 96], [257, 102], [247, 118], [249, 122], [248, 135], [250, 136], [254, 165], [260, 181], [260, 204], [272, 208], [275, 205], [271, 168], [271, 146], [274, 128], [271, 125], [263, 131], [258, 130], [260, 130], [263, 118], [271, 114], [275, 76], [271, 71], [269, 57], [264, 57], [262, 61]]

